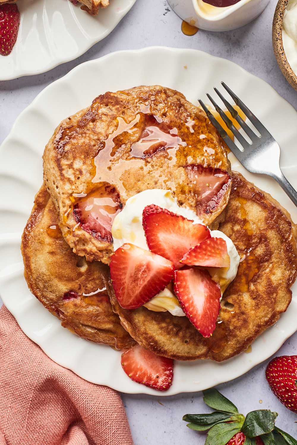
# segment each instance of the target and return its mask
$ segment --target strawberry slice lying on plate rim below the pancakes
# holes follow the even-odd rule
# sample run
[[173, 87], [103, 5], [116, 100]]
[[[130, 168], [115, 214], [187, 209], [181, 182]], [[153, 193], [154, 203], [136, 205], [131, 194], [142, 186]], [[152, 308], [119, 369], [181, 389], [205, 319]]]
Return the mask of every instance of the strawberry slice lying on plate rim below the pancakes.
[[173, 379], [173, 360], [156, 356], [139, 344], [122, 354], [122, 368], [134, 382], [167, 391]]

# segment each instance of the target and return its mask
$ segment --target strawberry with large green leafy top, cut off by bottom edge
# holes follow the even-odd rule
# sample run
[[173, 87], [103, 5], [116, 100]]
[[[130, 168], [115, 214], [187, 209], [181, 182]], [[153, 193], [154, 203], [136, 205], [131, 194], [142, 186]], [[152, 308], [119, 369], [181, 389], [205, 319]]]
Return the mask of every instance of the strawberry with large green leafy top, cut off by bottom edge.
[[203, 400], [213, 411], [210, 414], [186, 414], [187, 426], [206, 431], [205, 445], [297, 445], [296, 439], [275, 426], [277, 413], [257, 409], [246, 417], [223, 394], [214, 388], [203, 391]]

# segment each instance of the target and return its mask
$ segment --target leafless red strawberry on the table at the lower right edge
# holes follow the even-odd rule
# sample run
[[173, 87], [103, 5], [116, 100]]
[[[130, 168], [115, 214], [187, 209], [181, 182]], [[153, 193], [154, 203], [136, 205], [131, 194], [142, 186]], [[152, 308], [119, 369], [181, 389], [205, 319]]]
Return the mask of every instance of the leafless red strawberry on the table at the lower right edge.
[[278, 400], [297, 413], [297, 356], [275, 357], [266, 368], [266, 379]]

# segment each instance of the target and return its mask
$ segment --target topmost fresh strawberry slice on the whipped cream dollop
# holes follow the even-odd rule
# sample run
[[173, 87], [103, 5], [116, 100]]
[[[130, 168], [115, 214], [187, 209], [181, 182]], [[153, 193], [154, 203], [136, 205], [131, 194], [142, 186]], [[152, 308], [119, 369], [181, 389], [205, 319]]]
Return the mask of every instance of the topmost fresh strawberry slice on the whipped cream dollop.
[[193, 221], [155, 204], [144, 208], [142, 226], [149, 249], [170, 259], [175, 269], [183, 267], [180, 260], [191, 247], [211, 237], [203, 224], [193, 224]]

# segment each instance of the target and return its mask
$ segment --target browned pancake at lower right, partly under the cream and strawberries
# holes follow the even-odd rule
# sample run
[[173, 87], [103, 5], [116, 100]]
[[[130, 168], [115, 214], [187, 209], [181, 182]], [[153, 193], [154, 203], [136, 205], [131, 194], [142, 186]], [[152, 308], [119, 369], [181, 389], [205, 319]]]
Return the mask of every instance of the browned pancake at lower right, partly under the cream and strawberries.
[[[123, 326], [144, 348], [177, 360], [227, 360], [244, 351], [285, 312], [296, 279], [296, 225], [269, 194], [233, 172], [232, 192], [219, 230], [232, 239], [241, 262], [221, 300], [212, 337], [204, 339], [186, 317], [123, 309]], [[112, 286], [111, 286], [112, 288]]]

